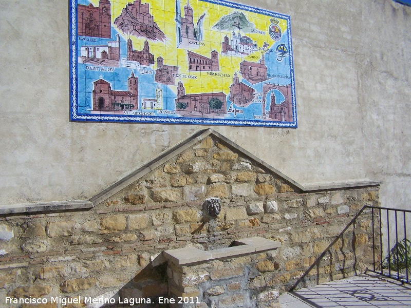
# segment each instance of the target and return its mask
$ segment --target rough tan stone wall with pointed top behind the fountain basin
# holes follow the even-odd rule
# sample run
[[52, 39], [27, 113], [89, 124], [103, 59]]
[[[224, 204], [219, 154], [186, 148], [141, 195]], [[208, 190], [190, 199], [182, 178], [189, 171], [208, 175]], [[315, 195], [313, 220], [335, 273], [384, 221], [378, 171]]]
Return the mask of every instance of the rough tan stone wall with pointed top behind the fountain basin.
[[[216, 218], [204, 211], [208, 197], [221, 199]], [[252, 236], [282, 243], [271, 256], [256, 258], [274, 266], [258, 287], [283, 292], [364, 205], [378, 206], [378, 200], [379, 186], [302, 191], [211, 135], [94, 208], [2, 215], [0, 300], [167, 296], [166, 265], [157, 256], [162, 251], [211, 250]], [[369, 215], [347, 230], [306, 284], [353, 275], [372, 263]]]

